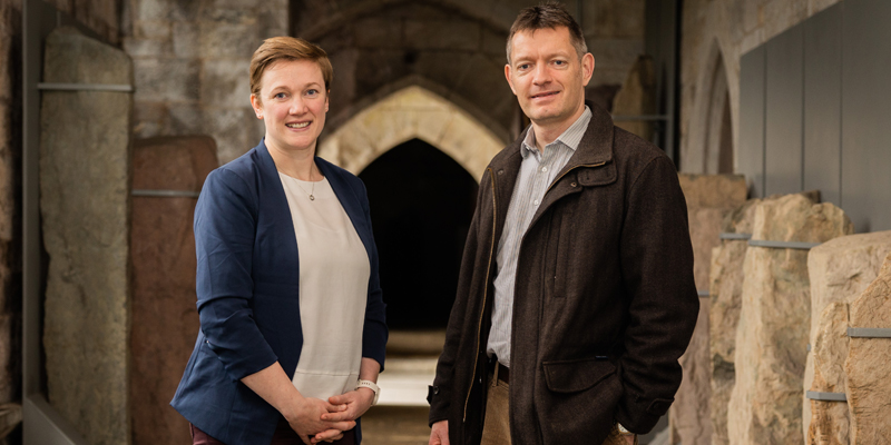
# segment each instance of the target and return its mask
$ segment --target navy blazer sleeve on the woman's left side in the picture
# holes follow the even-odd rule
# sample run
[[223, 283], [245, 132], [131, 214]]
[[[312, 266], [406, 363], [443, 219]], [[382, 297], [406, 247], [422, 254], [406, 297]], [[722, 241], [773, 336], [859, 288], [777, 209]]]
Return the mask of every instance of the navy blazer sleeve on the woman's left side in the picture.
[[277, 362], [254, 319], [252, 263], [257, 194], [227, 169], [205, 180], [195, 207], [196, 290], [202, 332], [229, 378]]

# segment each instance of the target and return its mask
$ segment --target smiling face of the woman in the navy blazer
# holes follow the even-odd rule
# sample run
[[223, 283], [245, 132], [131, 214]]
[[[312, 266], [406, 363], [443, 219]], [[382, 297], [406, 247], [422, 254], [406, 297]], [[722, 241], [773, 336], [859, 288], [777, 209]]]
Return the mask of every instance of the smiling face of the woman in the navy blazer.
[[266, 125], [266, 147], [315, 150], [327, 112], [322, 69], [312, 60], [277, 61], [263, 72], [260, 96], [251, 95], [251, 105]]

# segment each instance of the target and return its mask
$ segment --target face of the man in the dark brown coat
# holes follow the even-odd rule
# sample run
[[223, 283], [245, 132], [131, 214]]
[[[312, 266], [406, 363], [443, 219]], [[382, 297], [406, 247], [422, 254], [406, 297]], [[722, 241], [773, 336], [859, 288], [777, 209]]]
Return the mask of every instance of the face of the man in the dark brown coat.
[[576, 117], [591, 72], [594, 56], [586, 53], [579, 60], [566, 27], [517, 32], [510, 65], [505, 67], [520, 108], [538, 126], [560, 126]]

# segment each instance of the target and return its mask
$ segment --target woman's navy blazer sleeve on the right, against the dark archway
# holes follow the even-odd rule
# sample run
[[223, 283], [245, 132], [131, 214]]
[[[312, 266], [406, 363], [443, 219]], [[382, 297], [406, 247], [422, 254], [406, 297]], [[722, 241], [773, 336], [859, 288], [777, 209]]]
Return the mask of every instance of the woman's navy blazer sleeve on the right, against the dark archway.
[[371, 230], [371, 210], [365, 186], [359, 182], [359, 200], [362, 202], [362, 210], [365, 222], [368, 224], [369, 238], [369, 295], [365, 303], [365, 325], [362, 328], [362, 356], [375, 359], [383, 370], [384, 357], [386, 355], [386, 305], [383, 303], [381, 291], [380, 265], [378, 263], [378, 246], [374, 244], [374, 235]]

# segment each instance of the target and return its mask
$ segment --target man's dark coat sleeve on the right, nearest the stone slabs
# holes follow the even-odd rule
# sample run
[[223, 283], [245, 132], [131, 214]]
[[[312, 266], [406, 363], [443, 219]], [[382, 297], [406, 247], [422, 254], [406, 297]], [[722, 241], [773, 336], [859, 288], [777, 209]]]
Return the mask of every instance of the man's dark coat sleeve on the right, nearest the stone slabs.
[[643, 434], [674, 402], [682, 376], [678, 358], [699, 310], [687, 206], [667, 157], [650, 160], [630, 186], [620, 248], [629, 318], [616, 419]]

